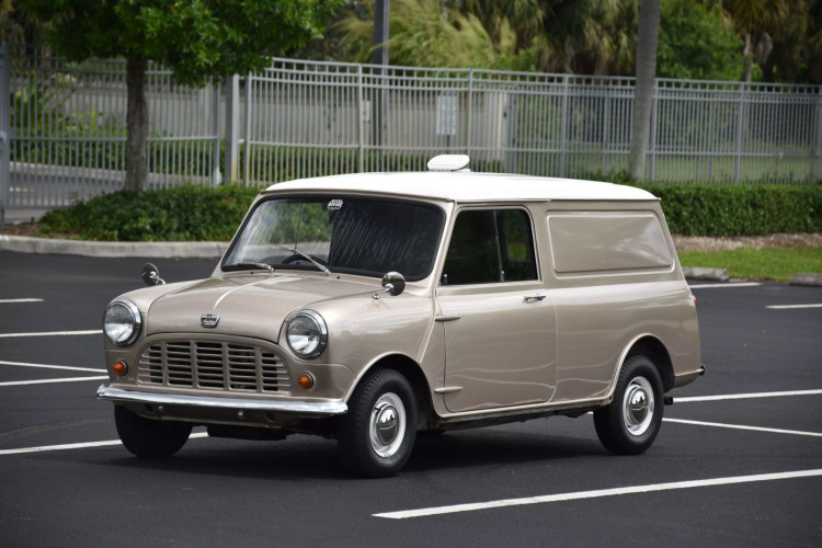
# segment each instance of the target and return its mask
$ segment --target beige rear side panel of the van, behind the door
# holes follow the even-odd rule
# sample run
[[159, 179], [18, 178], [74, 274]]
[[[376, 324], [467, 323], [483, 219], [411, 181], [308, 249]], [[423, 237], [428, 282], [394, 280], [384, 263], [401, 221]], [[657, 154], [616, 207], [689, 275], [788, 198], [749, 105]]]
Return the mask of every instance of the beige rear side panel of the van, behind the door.
[[551, 402], [610, 396], [624, 353], [643, 335], [664, 344], [674, 375], [696, 372], [696, 307], [659, 203], [555, 202], [545, 214], [558, 340]]

